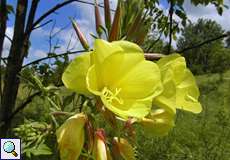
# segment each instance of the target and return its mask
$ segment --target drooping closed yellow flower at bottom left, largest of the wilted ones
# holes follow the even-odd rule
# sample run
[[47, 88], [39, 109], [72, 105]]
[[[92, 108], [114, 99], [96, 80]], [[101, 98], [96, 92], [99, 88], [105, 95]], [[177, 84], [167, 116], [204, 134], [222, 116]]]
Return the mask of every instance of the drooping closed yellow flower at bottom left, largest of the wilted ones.
[[66, 120], [57, 130], [56, 136], [61, 160], [76, 160], [80, 156], [85, 141], [86, 119], [86, 115], [76, 114]]

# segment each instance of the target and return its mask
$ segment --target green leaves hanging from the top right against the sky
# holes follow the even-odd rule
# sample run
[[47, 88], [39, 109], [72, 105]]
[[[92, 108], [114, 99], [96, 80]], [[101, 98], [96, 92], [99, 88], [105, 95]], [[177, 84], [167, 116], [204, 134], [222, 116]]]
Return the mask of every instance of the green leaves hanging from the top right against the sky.
[[[172, 38], [176, 40], [176, 34], [181, 32], [184, 27], [187, 26], [187, 23], [190, 20], [187, 17], [186, 11], [184, 10], [184, 0], [168, 0], [168, 7], [172, 6], [171, 13], [164, 13], [163, 10], [159, 7], [159, 0], [146, 0], [145, 1], [145, 14], [150, 15], [150, 23], [152, 31], [158, 31], [160, 34], [163, 33], [165, 37], [170, 34], [170, 25]], [[222, 15], [223, 8], [228, 8], [228, 6], [224, 5], [223, 0], [191, 0], [191, 3], [194, 5], [204, 5], [207, 6], [209, 4], [213, 4], [217, 12]], [[177, 18], [172, 19], [170, 22], [170, 15], [176, 15]]]

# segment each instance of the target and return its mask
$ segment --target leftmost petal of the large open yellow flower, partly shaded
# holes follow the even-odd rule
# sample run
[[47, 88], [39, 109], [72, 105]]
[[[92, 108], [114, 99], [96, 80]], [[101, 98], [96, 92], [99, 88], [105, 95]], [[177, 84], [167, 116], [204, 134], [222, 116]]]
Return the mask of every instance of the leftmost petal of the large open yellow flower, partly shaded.
[[62, 75], [62, 81], [66, 88], [77, 93], [89, 95], [86, 87], [86, 74], [90, 67], [90, 53], [83, 53], [77, 56], [66, 68]]

